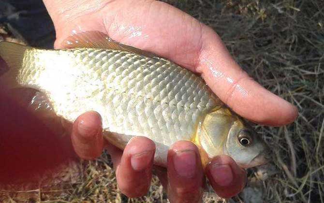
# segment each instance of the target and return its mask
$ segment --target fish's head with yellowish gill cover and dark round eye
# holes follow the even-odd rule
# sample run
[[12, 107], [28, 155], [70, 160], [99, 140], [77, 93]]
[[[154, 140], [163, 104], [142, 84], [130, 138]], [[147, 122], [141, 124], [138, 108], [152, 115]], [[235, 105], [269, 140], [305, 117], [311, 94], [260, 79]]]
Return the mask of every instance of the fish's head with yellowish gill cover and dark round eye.
[[226, 109], [208, 114], [201, 123], [197, 137], [200, 148], [208, 157], [205, 156], [205, 162], [221, 154], [230, 156], [242, 168], [263, 165], [270, 161], [271, 151], [261, 136]]

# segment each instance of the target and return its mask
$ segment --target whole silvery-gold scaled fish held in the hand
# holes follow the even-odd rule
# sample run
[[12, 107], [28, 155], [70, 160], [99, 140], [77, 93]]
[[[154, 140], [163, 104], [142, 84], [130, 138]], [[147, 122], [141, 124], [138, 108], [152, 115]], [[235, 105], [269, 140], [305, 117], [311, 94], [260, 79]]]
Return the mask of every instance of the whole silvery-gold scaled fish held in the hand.
[[218, 155], [242, 168], [270, 160], [261, 136], [200, 75], [98, 31], [74, 34], [65, 43], [64, 49], [41, 49], [0, 42], [9, 67], [0, 67], [0, 80], [41, 92], [68, 122], [98, 112], [104, 138], [120, 149], [134, 136], [151, 139], [160, 166], [166, 167], [168, 149], [179, 140], [197, 145], [204, 166]]

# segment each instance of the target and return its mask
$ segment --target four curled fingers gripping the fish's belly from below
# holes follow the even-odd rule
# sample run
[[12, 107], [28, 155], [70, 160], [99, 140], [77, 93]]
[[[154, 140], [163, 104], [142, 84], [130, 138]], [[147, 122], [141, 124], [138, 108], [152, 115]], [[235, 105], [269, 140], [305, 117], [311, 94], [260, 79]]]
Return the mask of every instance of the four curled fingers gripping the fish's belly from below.
[[[91, 160], [102, 153], [101, 125], [101, 117], [96, 112], [87, 112], [75, 120], [72, 143], [80, 158]], [[129, 197], [147, 193], [153, 167], [167, 189], [170, 202], [199, 202], [204, 174], [217, 194], [224, 198], [236, 195], [246, 184], [245, 171], [228, 156], [215, 157], [204, 171], [198, 148], [188, 141], [178, 141], [170, 147], [167, 170], [153, 166], [155, 144], [146, 137], [133, 138], [124, 151], [107, 142], [104, 146], [114, 162], [118, 187]]]

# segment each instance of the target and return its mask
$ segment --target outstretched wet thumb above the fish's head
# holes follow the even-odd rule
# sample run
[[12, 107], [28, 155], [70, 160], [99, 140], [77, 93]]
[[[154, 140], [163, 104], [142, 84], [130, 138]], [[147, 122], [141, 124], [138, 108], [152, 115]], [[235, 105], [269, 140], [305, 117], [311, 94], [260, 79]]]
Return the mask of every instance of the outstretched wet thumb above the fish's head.
[[291, 103], [261, 87], [231, 57], [220, 37], [204, 26], [197, 71], [237, 114], [256, 123], [279, 126], [298, 115]]

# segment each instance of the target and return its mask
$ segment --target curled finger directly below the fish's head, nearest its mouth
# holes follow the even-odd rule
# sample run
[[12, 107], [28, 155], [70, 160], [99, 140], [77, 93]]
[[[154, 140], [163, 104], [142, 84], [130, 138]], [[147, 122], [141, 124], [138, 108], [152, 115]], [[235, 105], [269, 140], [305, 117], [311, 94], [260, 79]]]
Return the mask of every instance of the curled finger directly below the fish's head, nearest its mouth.
[[237, 195], [246, 185], [245, 170], [228, 156], [218, 156], [206, 166], [206, 175], [215, 192], [222, 198]]

